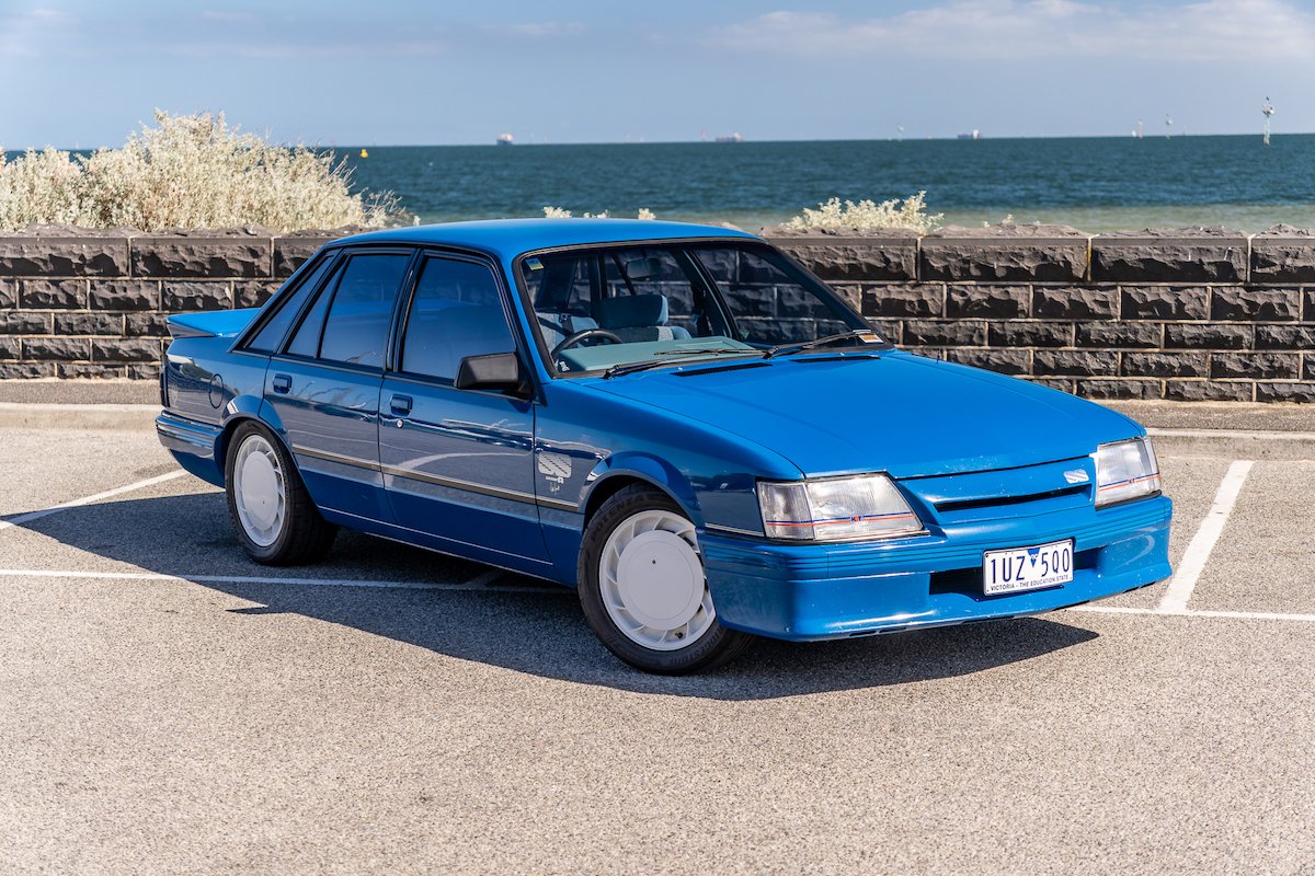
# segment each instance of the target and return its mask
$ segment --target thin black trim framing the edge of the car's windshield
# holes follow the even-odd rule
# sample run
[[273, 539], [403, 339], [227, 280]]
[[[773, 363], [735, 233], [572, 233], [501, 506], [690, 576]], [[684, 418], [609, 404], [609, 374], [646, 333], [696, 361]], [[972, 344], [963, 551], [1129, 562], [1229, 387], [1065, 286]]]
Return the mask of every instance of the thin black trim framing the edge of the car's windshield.
[[[519, 253], [518, 256], [515, 256], [512, 260], [512, 272], [510, 272], [512, 276], [509, 277], [509, 280], [512, 281], [512, 286], [515, 289], [515, 293], [517, 293], [517, 296], [521, 299], [521, 307], [525, 311], [525, 323], [529, 327], [529, 332], [530, 332], [530, 336], [526, 339], [529, 341], [527, 345], [533, 347], [538, 352], [538, 355], [539, 355], [539, 364], [543, 366], [543, 370], [544, 370], [544, 373], [547, 373], [548, 378], [550, 380], [597, 378], [597, 377], [602, 377], [602, 374], [608, 369], [606, 368], [596, 368], [596, 369], [583, 370], [583, 372], [559, 372], [556, 369], [556, 365], [552, 361], [552, 351], [548, 349], [548, 347], [546, 345], [546, 343], [543, 340], [543, 332], [538, 331], [538, 328], [535, 327], [534, 301], [530, 297], [530, 290], [529, 290], [529, 288], [526, 288], [525, 281], [523, 281], [522, 265], [525, 264], [526, 260], [534, 259], [537, 256], [555, 255], [555, 253], [559, 253], [559, 252], [590, 252], [590, 251], [596, 251], [596, 250], [623, 250], [626, 247], [671, 247], [671, 248], [676, 248], [676, 250], [693, 250], [694, 247], [701, 247], [701, 246], [702, 247], [709, 247], [709, 246], [719, 246], [719, 244], [721, 246], [735, 246], [735, 247], [753, 248], [753, 250], [757, 250], [757, 248], [771, 250], [775, 255], [777, 255], [781, 259], [784, 259], [792, 268], [794, 268], [796, 271], [798, 271], [800, 273], [802, 273], [806, 278], [813, 280], [819, 286], [819, 289], [817, 289], [817, 292], [821, 296], [823, 296], [827, 299], [828, 303], [831, 303], [832, 306], [839, 307], [844, 313], [848, 313], [852, 317], [855, 317], [856, 319], [859, 319], [865, 328], [871, 328], [871, 331], [873, 334], [876, 334], [877, 338], [881, 338], [888, 344], [888, 347], [886, 347], [888, 349], [890, 347], [893, 347], [893, 344], [890, 344], [890, 341], [886, 340], [881, 335], [880, 331], [877, 331], [874, 327], [871, 326], [871, 323], [867, 320], [867, 318], [863, 317], [863, 314], [860, 314], [842, 296], [838, 296], [835, 293], [835, 290], [832, 290], [826, 284], [826, 281], [823, 281], [823, 280], [818, 278], [817, 276], [814, 276], [813, 272], [810, 272], [807, 268], [805, 268], [797, 260], [792, 259], [789, 256], [789, 253], [782, 252], [780, 248], [772, 246], [769, 242], [767, 242], [767, 240], [764, 240], [761, 238], [756, 238], [756, 236], [748, 236], [748, 238], [746, 238], [746, 236], [739, 236], [739, 235], [726, 235], [726, 236], [698, 235], [698, 236], [690, 236], [690, 238], [661, 238], [661, 239], [642, 238], [642, 239], [636, 239], [636, 240], [609, 240], [609, 242], [605, 242], [605, 243], [569, 243], [569, 244], [555, 246], [555, 247], [539, 247], [537, 250], [526, 250], [525, 252]], [[693, 253], [690, 253], [690, 255], [693, 255]], [[698, 257], [692, 257], [692, 261], [694, 264], [694, 269], [698, 272], [700, 280], [705, 285], [709, 286], [710, 294], [715, 296], [718, 298], [718, 301], [721, 301], [721, 298], [722, 298], [722, 290], [721, 290], [719, 284], [717, 284], [715, 280], [709, 276], [706, 267], [702, 264], [702, 261]], [[722, 305], [722, 306], [725, 306], [725, 305]], [[757, 357], [761, 356], [761, 353], [764, 351], [765, 351], [765, 348], [763, 348], [763, 349], [753, 348], [753, 349], [746, 349], [744, 353], [746, 353], [746, 357], [757, 359]], [[809, 351], [809, 352], [811, 353], [813, 351]], [[690, 356], [689, 359], [673, 357], [672, 361], [663, 362], [661, 366], [665, 366], [665, 368], [680, 368], [680, 366], [684, 366], [684, 365], [693, 365], [693, 364], [697, 364], [697, 362], [735, 361], [736, 359], [739, 359], [739, 357], [730, 356], [730, 355], [725, 355], [725, 356]], [[635, 360], [635, 361], [647, 361], [647, 360]], [[618, 364], [626, 365], [626, 364], [631, 364], [631, 362], [618, 362]]]

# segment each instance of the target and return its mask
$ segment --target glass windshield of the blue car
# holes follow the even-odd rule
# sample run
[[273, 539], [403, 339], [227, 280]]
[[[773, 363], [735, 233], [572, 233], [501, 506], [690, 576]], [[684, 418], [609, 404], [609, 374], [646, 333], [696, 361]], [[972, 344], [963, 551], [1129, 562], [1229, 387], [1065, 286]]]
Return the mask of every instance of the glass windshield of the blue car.
[[888, 345], [826, 284], [756, 242], [558, 251], [521, 259], [519, 273], [562, 374]]

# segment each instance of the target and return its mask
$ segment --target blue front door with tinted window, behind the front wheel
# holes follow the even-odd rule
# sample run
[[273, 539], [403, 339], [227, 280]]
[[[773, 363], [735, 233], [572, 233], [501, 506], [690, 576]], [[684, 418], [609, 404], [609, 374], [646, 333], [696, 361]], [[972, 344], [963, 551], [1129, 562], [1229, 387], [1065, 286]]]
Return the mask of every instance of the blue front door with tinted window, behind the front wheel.
[[517, 349], [509, 313], [492, 264], [421, 260], [396, 369], [384, 376], [379, 453], [398, 525], [490, 562], [542, 562], [534, 403], [455, 386], [467, 356]]

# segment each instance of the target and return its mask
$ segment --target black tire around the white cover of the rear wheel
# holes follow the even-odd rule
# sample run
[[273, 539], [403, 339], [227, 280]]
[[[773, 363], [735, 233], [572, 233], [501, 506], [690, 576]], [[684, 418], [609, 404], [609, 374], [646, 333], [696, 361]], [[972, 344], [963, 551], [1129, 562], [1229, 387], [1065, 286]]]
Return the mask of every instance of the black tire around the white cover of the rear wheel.
[[[247, 535], [246, 527], [238, 514], [238, 502], [234, 495], [234, 468], [239, 457], [243, 443], [259, 437], [272, 448], [279, 461], [279, 470], [283, 474], [284, 489], [284, 516], [281, 527], [274, 540], [262, 545]], [[275, 435], [255, 422], [247, 422], [233, 432], [229, 441], [227, 453], [224, 461], [224, 483], [229, 504], [229, 520], [237, 532], [238, 541], [252, 559], [266, 566], [299, 566], [302, 563], [322, 559], [333, 546], [338, 528], [327, 523], [310, 500], [301, 475], [297, 473], [292, 454], [284, 449], [283, 443]]]

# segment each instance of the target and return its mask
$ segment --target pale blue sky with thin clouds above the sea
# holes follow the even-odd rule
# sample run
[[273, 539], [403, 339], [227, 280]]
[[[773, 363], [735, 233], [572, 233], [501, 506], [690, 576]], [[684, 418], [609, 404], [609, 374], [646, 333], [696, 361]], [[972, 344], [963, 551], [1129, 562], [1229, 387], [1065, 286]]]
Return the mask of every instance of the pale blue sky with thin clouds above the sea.
[[1315, 0], [0, 0], [0, 144], [1315, 130]]

